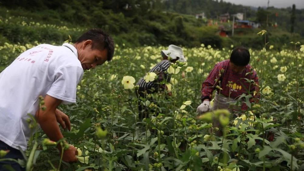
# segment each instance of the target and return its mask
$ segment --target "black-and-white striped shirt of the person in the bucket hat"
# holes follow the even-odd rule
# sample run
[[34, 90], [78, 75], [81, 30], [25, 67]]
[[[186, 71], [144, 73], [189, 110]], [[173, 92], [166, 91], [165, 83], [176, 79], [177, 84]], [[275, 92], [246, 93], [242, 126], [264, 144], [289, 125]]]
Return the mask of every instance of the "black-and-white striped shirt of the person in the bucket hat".
[[159, 90], [159, 87], [161, 86], [159, 83], [161, 83], [163, 80], [166, 80], [170, 83], [170, 74], [168, 74], [167, 71], [170, 67], [171, 62], [169, 60], [162, 60], [160, 63], [157, 63], [149, 72], [154, 72], [157, 74], [157, 79], [151, 82], [146, 82], [142, 77], [140, 80], [136, 83], [136, 85], [139, 85], [140, 88], [144, 89], [151, 89], [154, 88], [156, 91]]

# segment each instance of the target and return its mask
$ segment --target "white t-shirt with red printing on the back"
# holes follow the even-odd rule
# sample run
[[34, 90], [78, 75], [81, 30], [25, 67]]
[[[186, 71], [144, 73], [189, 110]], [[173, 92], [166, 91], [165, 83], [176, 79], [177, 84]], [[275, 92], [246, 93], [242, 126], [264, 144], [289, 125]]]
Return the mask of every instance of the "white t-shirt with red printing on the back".
[[33, 131], [27, 114], [35, 116], [39, 96], [63, 104], [76, 102], [76, 87], [83, 75], [76, 48], [41, 44], [19, 55], [0, 73], [0, 140], [22, 150]]

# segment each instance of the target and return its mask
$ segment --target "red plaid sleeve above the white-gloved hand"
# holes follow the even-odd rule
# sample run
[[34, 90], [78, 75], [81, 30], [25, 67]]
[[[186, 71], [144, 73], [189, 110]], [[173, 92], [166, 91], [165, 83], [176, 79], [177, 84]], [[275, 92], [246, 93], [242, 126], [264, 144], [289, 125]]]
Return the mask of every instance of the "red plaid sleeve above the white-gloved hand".
[[206, 78], [206, 80], [202, 84], [202, 98], [201, 100], [204, 101], [204, 99], [211, 100], [212, 98], [212, 92], [215, 90], [215, 87], [219, 85], [219, 73], [222, 67], [220, 64], [216, 64], [215, 67], [212, 69], [212, 71], [209, 73], [209, 76]]

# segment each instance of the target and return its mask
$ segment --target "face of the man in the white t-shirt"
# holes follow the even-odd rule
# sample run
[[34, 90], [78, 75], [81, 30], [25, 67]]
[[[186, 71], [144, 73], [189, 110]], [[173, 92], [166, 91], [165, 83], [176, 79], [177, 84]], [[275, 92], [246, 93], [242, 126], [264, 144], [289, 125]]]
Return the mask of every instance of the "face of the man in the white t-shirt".
[[78, 51], [78, 59], [84, 70], [89, 70], [105, 63], [108, 56], [107, 49], [92, 49], [92, 40], [86, 40], [82, 43]]

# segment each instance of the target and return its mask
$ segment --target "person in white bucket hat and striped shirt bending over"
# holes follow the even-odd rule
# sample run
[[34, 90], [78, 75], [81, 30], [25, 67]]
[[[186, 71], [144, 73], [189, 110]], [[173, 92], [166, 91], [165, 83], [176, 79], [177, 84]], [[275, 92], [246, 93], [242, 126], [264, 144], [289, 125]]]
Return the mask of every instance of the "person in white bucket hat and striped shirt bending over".
[[[140, 120], [149, 116], [148, 106], [151, 102], [154, 102], [154, 100], [149, 94], [168, 89], [164, 82], [171, 82], [170, 74], [166, 72], [170, 67], [171, 63], [175, 63], [177, 60], [179, 60], [180, 62], [187, 61], [182, 48], [175, 45], [169, 45], [168, 50], [162, 50], [161, 56], [163, 57], [163, 60], [157, 63], [149, 71], [149, 73], [155, 73], [157, 75], [157, 78], [154, 81], [147, 81], [144, 79], [145, 77], [142, 77], [136, 84], [139, 87], [138, 90], [136, 90], [136, 96], [139, 98], [138, 116]], [[171, 92], [168, 92], [167, 95], [171, 96]]]

